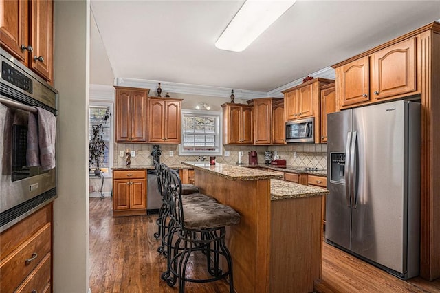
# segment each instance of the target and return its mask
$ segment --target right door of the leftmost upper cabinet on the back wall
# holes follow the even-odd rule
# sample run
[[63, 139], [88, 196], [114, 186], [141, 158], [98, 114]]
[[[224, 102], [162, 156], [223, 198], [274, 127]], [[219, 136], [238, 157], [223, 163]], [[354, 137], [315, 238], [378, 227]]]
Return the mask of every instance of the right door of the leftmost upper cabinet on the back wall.
[[133, 91], [131, 96], [131, 142], [146, 142], [146, 111], [146, 92]]

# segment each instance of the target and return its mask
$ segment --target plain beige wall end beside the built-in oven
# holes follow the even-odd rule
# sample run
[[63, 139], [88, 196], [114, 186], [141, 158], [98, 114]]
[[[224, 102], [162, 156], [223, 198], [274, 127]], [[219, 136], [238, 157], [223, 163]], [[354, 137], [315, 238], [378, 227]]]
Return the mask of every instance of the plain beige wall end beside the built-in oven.
[[58, 199], [54, 201], [54, 292], [89, 289], [89, 1], [54, 3], [58, 89]]

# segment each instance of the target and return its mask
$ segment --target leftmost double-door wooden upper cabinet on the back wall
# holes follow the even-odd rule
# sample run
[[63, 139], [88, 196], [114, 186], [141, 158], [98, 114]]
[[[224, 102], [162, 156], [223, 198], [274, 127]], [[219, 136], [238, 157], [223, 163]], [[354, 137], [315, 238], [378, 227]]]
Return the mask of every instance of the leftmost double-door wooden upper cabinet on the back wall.
[[146, 115], [150, 89], [115, 86], [116, 142], [147, 142]]

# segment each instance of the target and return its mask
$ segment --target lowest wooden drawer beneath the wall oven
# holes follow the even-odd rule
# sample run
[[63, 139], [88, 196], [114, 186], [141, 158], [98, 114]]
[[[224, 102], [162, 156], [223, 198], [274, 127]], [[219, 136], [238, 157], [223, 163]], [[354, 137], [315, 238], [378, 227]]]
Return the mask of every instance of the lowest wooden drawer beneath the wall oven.
[[36, 266], [28, 278], [17, 288], [19, 292], [50, 292], [50, 253]]

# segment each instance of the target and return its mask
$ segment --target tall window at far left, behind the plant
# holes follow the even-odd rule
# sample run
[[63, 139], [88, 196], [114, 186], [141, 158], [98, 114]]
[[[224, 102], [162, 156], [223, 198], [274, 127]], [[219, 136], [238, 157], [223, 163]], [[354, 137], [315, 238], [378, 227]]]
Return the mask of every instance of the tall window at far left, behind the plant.
[[[105, 103], [97, 103], [100, 105], [90, 105], [89, 107], [89, 142], [93, 140], [94, 132], [97, 127], [100, 127], [99, 138], [102, 138], [103, 142], [103, 156], [100, 159], [99, 167], [101, 172], [109, 174], [110, 162], [113, 158], [113, 144], [111, 144], [111, 105], [105, 105]], [[108, 116], [110, 114], [110, 117]], [[107, 116], [107, 119], [106, 119]], [[96, 162], [89, 160], [89, 169], [93, 171], [96, 169]]]

